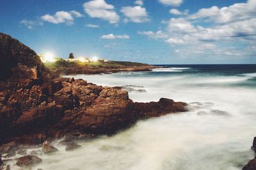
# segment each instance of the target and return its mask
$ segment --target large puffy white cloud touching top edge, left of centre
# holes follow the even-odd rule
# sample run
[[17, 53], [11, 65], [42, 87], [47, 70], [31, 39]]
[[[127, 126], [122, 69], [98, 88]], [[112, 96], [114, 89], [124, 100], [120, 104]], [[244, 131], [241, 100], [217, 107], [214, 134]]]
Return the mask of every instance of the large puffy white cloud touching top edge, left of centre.
[[115, 12], [113, 5], [104, 0], [93, 0], [83, 4], [84, 11], [92, 18], [107, 20], [111, 24], [119, 21], [119, 15]]

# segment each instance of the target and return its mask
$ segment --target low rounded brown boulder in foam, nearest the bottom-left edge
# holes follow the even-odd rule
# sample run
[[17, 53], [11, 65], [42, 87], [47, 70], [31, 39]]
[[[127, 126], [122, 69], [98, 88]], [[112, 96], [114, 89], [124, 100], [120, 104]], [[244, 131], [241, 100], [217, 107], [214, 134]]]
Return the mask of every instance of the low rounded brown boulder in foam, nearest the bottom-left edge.
[[27, 166], [33, 166], [35, 164], [38, 164], [42, 162], [43, 160], [35, 155], [27, 155], [24, 157], [20, 157], [16, 163], [19, 167], [27, 167]]

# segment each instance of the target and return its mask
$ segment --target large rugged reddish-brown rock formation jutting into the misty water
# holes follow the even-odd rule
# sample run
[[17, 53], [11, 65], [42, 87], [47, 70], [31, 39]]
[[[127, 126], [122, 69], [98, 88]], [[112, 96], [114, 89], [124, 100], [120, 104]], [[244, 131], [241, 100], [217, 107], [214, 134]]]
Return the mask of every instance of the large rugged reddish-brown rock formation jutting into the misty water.
[[0, 145], [113, 134], [140, 118], [186, 111], [170, 99], [133, 103], [124, 90], [53, 78], [33, 50], [3, 33], [0, 57]]

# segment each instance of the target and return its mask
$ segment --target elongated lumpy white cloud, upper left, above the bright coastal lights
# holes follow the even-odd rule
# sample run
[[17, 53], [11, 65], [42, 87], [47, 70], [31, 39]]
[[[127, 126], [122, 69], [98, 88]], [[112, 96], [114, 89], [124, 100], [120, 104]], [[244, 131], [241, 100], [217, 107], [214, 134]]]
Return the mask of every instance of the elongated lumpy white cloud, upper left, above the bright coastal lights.
[[72, 15], [75, 17], [82, 17], [81, 13], [77, 11], [58, 11], [54, 15], [44, 15], [41, 17], [41, 19], [53, 24], [65, 23], [67, 25], [72, 25], [74, 23], [74, 18]]

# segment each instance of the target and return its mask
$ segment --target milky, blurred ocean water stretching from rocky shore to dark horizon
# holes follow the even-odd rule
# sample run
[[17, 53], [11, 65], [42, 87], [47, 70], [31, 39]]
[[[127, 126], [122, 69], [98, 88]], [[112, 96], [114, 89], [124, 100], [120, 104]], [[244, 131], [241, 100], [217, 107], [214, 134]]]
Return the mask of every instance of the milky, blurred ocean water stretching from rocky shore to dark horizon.
[[[81, 148], [40, 155], [42, 169], [242, 169], [254, 155], [256, 65], [161, 65], [149, 72], [74, 75], [104, 86], [128, 86], [133, 101], [167, 97], [189, 111], [140, 120]], [[33, 150], [33, 149], [31, 149]]]

